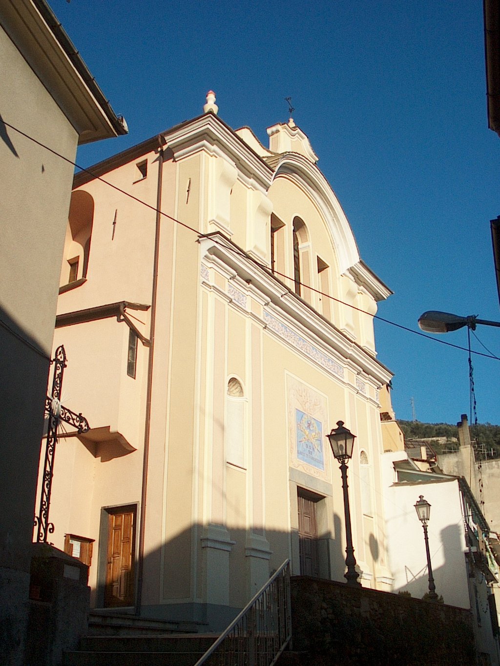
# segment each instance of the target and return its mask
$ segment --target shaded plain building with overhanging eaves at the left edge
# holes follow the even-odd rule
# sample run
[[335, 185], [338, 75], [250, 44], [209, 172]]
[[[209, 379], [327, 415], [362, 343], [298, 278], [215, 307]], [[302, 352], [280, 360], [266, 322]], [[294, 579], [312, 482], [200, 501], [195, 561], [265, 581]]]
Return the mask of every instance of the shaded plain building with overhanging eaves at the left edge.
[[0, 63], [0, 651], [17, 664], [71, 161], [126, 129], [44, 0], [1, 3]]

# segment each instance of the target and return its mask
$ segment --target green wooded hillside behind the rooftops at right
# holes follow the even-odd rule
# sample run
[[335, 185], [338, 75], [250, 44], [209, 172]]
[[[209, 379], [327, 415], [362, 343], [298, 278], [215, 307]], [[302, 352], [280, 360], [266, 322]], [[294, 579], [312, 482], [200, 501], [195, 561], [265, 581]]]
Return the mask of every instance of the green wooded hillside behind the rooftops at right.
[[[427, 439], [434, 437], [446, 438], [452, 444], [458, 439], [458, 428], [448, 423], [421, 423], [420, 421], [398, 421], [399, 428], [403, 431], [405, 439]], [[500, 458], [500, 426], [492, 426], [491, 423], [477, 424], [471, 426], [471, 440], [477, 439], [479, 451], [487, 458]], [[441, 440], [441, 446], [434, 446], [438, 453], [443, 448], [454, 448], [446, 446], [446, 440]]]

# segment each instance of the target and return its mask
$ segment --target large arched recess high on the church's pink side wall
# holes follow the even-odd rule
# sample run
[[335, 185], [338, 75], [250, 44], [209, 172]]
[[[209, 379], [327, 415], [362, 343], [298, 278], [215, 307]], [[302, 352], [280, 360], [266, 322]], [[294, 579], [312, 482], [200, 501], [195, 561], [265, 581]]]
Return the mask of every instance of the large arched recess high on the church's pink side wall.
[[69, 206], [61, 284], [71, 284], [87, 277], [93, 217], [92, 196], [83, 190], [73, 192]]

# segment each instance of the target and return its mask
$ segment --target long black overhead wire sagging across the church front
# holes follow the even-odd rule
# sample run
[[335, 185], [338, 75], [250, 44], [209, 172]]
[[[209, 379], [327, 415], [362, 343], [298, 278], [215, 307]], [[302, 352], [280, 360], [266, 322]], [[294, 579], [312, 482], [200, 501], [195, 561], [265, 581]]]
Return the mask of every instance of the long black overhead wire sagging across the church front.
[[[113, 188], [113, 190], [116, 190], [117, 192], [120, 192], [121, 194], [124, 194], [125, 196], [128, 196], [129, 198], [133, 199], [134, 201], [137, 201], [137, 203], [142, 204], [146, 208], [149, 208], [150, 210], [153, 210], [154, 212], [159, 213], [161, 216], [171, 220], [172, 222], [175, 222], [175, 224], [179, 224], [180, 226], [183, 226], [185, 229], [187, 229], [189, 231], [192, 231], [194, 234], [196, 234], [198, 236], [199, 239], [207, 237], [207, 234], [202, 234], [198, 229], [195, 229], [194, 227], [189, 226], [189, 224], [185, 224], [185, 222], [181, 222], [181, 220], [177, 220], [175, 217], [167, 214], [166, 212], [163, 212], [163, 210], [158, 210], [156, 206], [152, 206], [151, 204], [148, 204], [147, 202], [143, 201], [142, 199], [138, 198], [137, 196], [134, 196], [130, 192], [127, 192], [126, 190], [123, 190], [122, 188], [118, 187], [117, 185], [113, 185], [112, 182], [109, 182], [108, 180], [105, 180], [104, 178], [101, 178], [101, 176], [97, 176], [96, 174], [94, 174], [88, 168], [85, 168], [84, 166], [80, 166], [79, 164], [77, 164], [73, 160], [70, 160], [68, 157], [65, 157], [64, 155], [61, 155], [61, 153], [58, 153], [53, 148], [50, 148], [49, 146], [45, 145], [44, 143], [41, 143], [41, 141], [37, 141], [37, 139], [34, 139], [30, 135], [26, 134], [25, 132], [23, 132], [20, 129], [18, 129], [17, 127], [15, 127], [14, 125], [11, 125], [10, 123], [7, 123], [5, 120], [3, 120], [3, 125], [5, 125], [5, 127], [9, 127], [10, 129], [13, 129], [15, 132], [17, 132], [21, 136], [25, 137], [25, 139], [28, 139], [29, 141], [33, 141], [33, 143], [35, 143], [37, 146], [45, 149], [46, 151], [49, 151], [49, 153], [52, 153], [56, 157], [59, 157], [60, 159], [67, 162], [68, 164], [71, 164], [72, 166], [75, 166], [76, 168], [80, 169], [81, 171], [83, 171], [85, 173], [88, 173], [89, 176], [92, 176], [92, 178], [95, 178], [95, 180], [100, 180], [105, 185]], [[213, 240], [213, 242], [215, 242], [215, 244], [218, 244], [219, 246], [224, 247], [226, 250], [229, 250], [229, 251], [231, 251], [231, 252], [233, 252], [233, 253], [235, 253], [239, 256], [242, 256], [243, 258], [246, 258], [246, 259], [249, 258], [249, 256], [245, 252], [243, 252], [242, 250], [239, 250], [238, 248], [231, 248], [230, 246], [227, 246], [226, 244], [222, 244], [220, 242], [217, 242], [216, 238], [213, 238], [212, 240]], [[252, 262], [257, 264], [257, 266], [259, 266], [260, 268], [263, 268], [263, 270], [266, 270], [267, 272], [271, 272], [271, 269], [269, 268], [269, 266], [266, 266], [265, 264], [262, 264], [261, 262], [255, 260], [253, 257], [251, 257], [250, 259], [251, 259]], [[280, 273], [276, 270], [273, 271], [272, 273], [274, 275], [279, 275], [282, 278], [286, 278], [287, 280], [291, 280], [292, 282], [295, 282], [295, 278], [291, 278], [291, 276], [289, 276], [289, 275], [285, 275], [285, 274]], [[312, 292], [315, 292], [316, 294], [319, 294], [321, 296], [325, 296], [325, 298], [330, 298], [331, 300], [333, 300], [337, 303], [340, 303], [342, 305], [345, 305], [349, 308], [352, 308], [353, 310], [357, 310], [357, 312], [361, 312], [362, 314], [368, 314], [369, 316], [373, 317], [373, 319], [377, 319], [381, 322], [384, 322], [385, 324], [391, 324], [391, 326], [395, 326], [396, 328], [401, 328], [401, 330], [405, 330], [409, 333], [413, 333], [414, 335], [421, 336], [422, 338], [427, 338], [427, 340], [433, 340], [434, 342], [438, 342], [439, 344], [445, 344], [448, 347], [453, 347], [453, 348], [459, 349], [463, 352], [469, 352], [469, 348], [467, 348], [467, 347], [462, 347], [458, 344], [453, 344], [452, 342], [447, 342], [446, 340], [439, 340], [438, 338], [433, 338], [433, 337], [431, 337], [431, 336], [429, 336], [429, 335], [427, 335], [423, 332], [414, 330], [413, 328], [408, 328], [407, 326], [403, 326], [403, 324], [397, 324], [396, 322], [391, 322], [391, 320], [385, 319], [384, 317], [381, 317], [378, 314], [370, 314], [369, 312], [366, 312], [366, 310], [362, 310], [361, 308], [357, 308], [355, 305], [352, 305], [350, 303], [346, 303], [345, 301], [340, 300], [339, 298], [335, 298], [335, 296], [331, 296], [330, 294], [326, 294], [325, 292], [322, 292], [318, 289], [315, 289], [314, 287], [309, 286], [309, 284], [305, 284], [303, 282], [300, 282], [299, 284], [301, 286], [303, 286], [304, 288], [307, 288], [307, 289], [311, 290]], [[478, 341], [481, 342], [479, 340], [479, 338], [478, 338]], [[476, 351], [471, 350], [471, 353], [476, 354], [477, 356], [483, 356], [485, 358], [500, 360], [499, 357], [495, 356], [494, 354], [491, 354], [491, 352], [489, 354], [484, 354], [483, 352], [476, 352]]]

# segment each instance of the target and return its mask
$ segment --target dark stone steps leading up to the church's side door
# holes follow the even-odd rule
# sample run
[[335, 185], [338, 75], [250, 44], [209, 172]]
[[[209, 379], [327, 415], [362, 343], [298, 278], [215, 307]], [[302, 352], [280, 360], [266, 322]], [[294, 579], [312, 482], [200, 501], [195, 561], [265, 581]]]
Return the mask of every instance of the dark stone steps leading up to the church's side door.
[[91, 613], [89, 635], [63, 653], [63, 666], [193, 666], [217, 639], [200, 625]]

